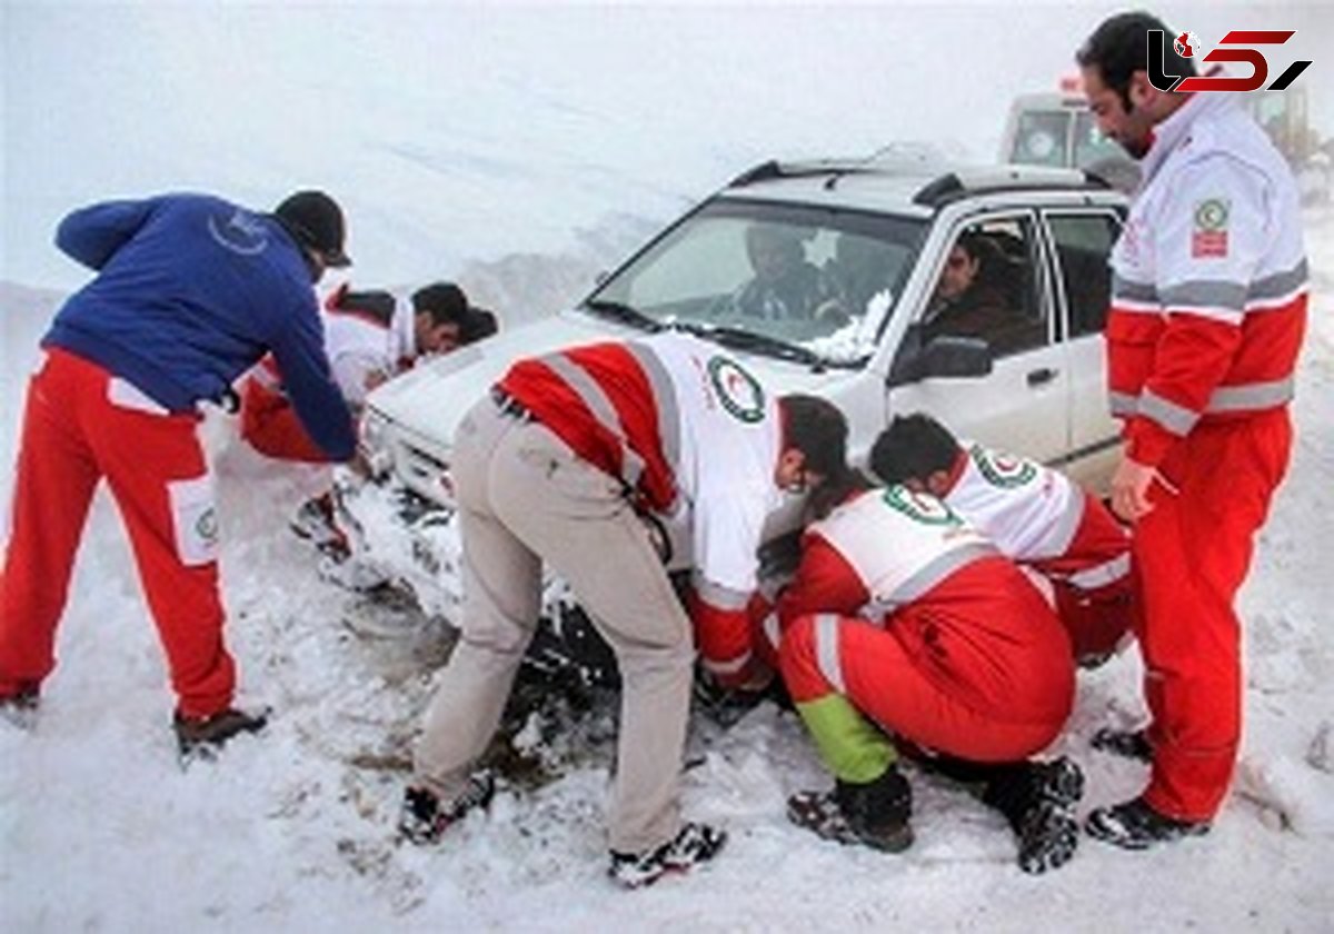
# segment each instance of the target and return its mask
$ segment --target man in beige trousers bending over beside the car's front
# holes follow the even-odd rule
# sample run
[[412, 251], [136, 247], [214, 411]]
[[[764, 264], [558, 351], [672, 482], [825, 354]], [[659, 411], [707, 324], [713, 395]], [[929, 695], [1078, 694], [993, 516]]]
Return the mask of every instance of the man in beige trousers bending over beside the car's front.
[[[546, 562], [620, 668], [612, 877], [639, 886], [711, 858], [726, 835], [683, 825], [678, 802], [696, 640], [722, 682], [759, 683], [746, 602], [764, 519], [784, 490], [842, 463], [840, 432], [831, 403], [776, 399], [715, 346], [679, 334], [511, 367], [456, 435], [462, 636], [426, 715], [403, 833], [432, 841], [490, 797], [471, 770], [532, 638]], [[642, 512], [688, 524], [688, 615]]]

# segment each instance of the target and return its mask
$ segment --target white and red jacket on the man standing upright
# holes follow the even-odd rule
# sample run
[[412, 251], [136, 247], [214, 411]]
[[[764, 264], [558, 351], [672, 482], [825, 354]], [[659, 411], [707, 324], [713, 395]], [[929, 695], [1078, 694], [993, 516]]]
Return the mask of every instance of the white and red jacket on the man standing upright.
[[1286, 404], [1306, 324], [1297, 184], [1233, 95], [1158, 124], [1113, 251], [1107, 379], [1131, 459], [1158, 464], [1201, 419]]

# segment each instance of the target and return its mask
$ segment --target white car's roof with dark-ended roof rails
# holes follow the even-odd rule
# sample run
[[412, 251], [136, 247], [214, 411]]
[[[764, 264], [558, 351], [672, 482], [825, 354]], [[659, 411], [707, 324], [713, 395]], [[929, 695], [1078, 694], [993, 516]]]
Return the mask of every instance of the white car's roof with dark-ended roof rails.
[[924, 219], [947, 204], [983, 195], [1030, 204], [1069, 203], [1110, 192], [1101, 179], [1079, 169], [871, 157], [771, 160], [743, 172], [720, 193], [728, 199], [886, 211]]

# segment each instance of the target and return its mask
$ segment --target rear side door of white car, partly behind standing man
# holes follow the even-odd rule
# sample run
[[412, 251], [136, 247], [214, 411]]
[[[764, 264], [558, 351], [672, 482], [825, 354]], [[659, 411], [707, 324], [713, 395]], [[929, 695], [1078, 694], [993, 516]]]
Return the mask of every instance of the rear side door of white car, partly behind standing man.
[[1114, 207], [1043, 211], [1070, 392], [1070, 451], [1061, 466], [1093, 488], [1105, 487], [1119, 448], [1119, 426], [1107, 408], [1103, 326], [1111, 302], [1109, 258], [1121, 221]]

